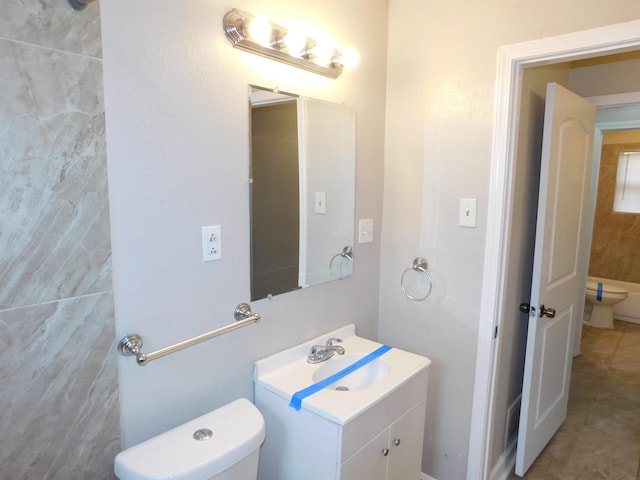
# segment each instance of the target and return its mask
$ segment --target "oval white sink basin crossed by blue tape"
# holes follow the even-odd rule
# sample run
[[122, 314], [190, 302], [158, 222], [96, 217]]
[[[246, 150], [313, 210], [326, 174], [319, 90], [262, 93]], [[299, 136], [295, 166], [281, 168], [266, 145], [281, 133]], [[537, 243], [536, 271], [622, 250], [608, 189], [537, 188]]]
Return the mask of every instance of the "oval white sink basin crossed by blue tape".
[[[353, 365], [365, 355], [365, 353], [355, 353], [351, 355], [342, 355], [340, 357], [334, 356], [325, 361], [323, 365], [314, 372], [312, 376], [313, 381], [320, 382], [348, 366]], [[326, 388], [337, 390], [339, 392], [368, 388], [389, 375], [390, 370], [389, 364], [385, 362], [382, 357], [378, 357], [356, 371], [336, 380]]]

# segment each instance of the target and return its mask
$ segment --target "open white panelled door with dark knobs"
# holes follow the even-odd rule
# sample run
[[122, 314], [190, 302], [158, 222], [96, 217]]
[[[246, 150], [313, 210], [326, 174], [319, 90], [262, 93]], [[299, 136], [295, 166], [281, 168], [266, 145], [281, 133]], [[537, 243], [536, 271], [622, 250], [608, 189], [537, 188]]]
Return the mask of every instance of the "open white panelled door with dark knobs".
[[524, 475], [567, 414], [575, 324], [583, 308], [582, 259], [596, 107], [547, 86], [531, 312], [516, 474]]

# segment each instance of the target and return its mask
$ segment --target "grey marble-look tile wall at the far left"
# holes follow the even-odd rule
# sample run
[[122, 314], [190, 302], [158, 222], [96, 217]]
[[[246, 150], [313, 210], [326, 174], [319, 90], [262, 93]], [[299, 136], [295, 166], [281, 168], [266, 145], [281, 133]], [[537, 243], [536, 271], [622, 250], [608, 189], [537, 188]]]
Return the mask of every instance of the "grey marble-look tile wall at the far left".
[[120, 448], [99, 4], [0, 0], [0, 478]]

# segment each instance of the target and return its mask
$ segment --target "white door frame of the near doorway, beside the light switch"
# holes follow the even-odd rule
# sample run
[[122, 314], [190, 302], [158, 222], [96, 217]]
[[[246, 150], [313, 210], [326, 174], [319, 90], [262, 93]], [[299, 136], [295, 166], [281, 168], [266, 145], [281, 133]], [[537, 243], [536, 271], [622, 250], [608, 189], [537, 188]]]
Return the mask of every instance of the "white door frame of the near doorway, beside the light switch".
[[[640, 20], [518, 43], [498, 49], [487, 237], [478, 325], [476, 372], [467, 480], [489, 478], [496, 364], [508, 282], [510, 214], [513, 208], [516, 123], [526, 67], [640, 49]], [[494, 338], [495, 336], [495, 338]], [[497, 340], [497, 341], [494, 341]]]

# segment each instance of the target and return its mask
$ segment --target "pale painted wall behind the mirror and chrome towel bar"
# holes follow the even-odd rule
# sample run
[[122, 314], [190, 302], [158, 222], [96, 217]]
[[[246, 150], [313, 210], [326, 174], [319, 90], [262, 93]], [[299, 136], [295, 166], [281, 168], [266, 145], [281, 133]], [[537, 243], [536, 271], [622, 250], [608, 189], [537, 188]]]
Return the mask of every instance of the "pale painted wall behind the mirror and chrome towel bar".
[[[356, 218], [381, 223], [387, 5], [382, 0], [236, 2], [306, 24], [360, 51], [338, 80], [233, 49], [219, 0], [101, 2], [116, 338], [143, 351], [233, 321], [249, 299], [248, 84], [357, 110]], [[366, 12], [366, 21], [362, 19]], [[222, 225], [223, 258], [202, 263], [200, 227]], [[261, 323], [139, 367], [119, 356], [130, 446], [240, 396], [253, 362], [355, 322], [377, 335], [379, 230], [355, 245], [354, 275], [253, 302]]]

